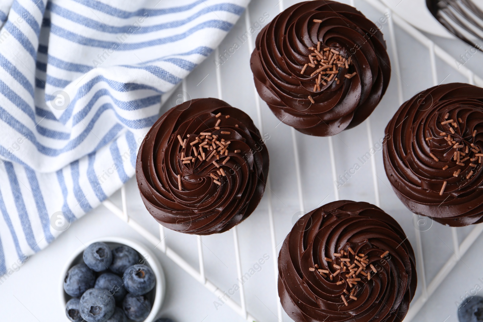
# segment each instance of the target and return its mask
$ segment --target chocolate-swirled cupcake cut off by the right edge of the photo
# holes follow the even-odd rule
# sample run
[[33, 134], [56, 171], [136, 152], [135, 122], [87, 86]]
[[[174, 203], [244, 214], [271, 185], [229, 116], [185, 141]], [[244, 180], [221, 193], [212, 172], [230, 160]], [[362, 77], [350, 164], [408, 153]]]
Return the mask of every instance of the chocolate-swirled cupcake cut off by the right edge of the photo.
[[401, 105], [385, 130], [384, 168], [399, 199], [441, 224], [483, 222], [483, 89], [443, 84]]

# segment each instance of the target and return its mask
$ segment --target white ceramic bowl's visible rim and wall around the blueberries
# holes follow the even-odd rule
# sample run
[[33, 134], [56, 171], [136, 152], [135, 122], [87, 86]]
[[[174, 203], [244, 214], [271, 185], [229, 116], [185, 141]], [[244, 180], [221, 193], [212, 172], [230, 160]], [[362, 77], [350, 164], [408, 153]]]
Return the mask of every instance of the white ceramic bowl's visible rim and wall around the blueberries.
[[[156, 314], [161, 308], [161, 305], [163, 303], [164, 295], [165, 295], [164, 293], [166, 289], [166, 281], [164, 278], [163, 267], [161, 267], [161, 264], [159, 264], [159, 261], [157, 260], [156, 256], [148, 248], [146, 248], [146, 246], [142, 245], [137, 241], [133, 241], [131, 239], [126, 239], [121, 237], [104, 237], [104, 238], [97, 238], [94, 240], [90, 240], [87, 243], [85, 243], [85, 246], [82, 246], [76, 252], [71, 254], [70, 258], [66, 262], [66, 265], [64, 267], [63, 274], [61, 275], [61, 280], [60, 280], [61, 309], [65, 311], [65, 306], [67, 304], [67, 301], [71, 299], [71, 296], [64, 292], [64, 278], [65, 278], [65, 275], [67, 274], [67, 271], [72, 266], [79, 264], [82, 261], [82, 253], [84, 252], [85, 248], [97, 241], [102, 241], [106, 243], [107, 245], [109, 245], [111, 249], [113, 249], [114, 247], [120, 246], [121, 244], [126, 245], [131, 247], [135, 251], [139, 252], [141, 256], [144, 256], [145, 264], [151, 267], [151, 269], [153, 270], [156, 276], [156, 286], [151, 292], [148, 293], [149, 294], [148, 297], [152, 305], [151, 312], [149, 313], [148, 317], [144, 320], [144, 322], [155, 321]], [[66, 317], [65, 321], [69, 321], [69, 319]]]

